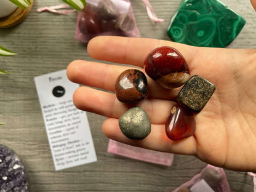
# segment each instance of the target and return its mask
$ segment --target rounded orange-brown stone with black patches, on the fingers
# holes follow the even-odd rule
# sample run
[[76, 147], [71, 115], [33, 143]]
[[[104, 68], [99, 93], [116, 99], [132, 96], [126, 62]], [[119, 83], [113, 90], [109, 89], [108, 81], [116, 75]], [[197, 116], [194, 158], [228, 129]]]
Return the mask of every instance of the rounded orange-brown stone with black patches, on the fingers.
[[148, 84], [142, 71], [130, 69], [116, 79], [116, 97], [123, 103], [137, 103], [148, 97]]

